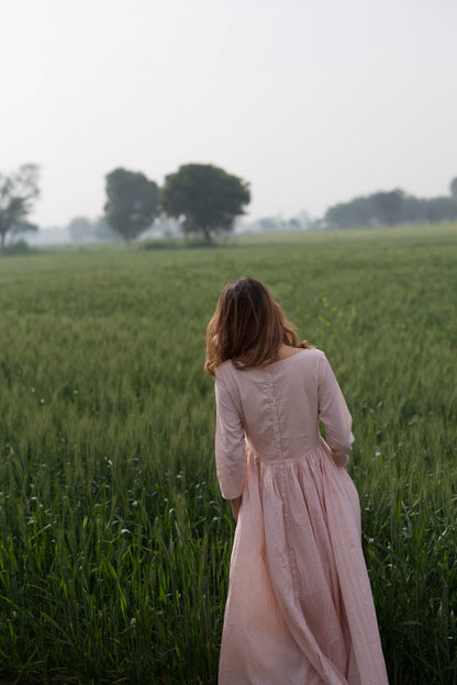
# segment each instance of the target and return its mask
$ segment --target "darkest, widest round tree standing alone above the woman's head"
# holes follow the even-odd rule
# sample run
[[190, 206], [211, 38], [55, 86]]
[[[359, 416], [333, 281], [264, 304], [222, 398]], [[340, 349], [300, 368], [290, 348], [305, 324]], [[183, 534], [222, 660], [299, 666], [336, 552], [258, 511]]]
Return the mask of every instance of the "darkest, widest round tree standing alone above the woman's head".
[[235, 216], [250, 201], [249, 184], [212, 165], [189, 164], [165, 179], [161, 209], [182, 221], [186, 233], [211, 235], [231, 231]]

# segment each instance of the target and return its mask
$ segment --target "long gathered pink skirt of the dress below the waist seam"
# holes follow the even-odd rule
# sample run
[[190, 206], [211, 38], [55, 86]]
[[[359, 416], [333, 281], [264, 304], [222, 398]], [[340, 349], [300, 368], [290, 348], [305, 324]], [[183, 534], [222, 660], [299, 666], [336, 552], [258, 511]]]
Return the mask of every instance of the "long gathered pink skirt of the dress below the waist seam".
[[219, 685], [387, 684], [346, 469], [323, 440], [300, 461], [246, 457]]

